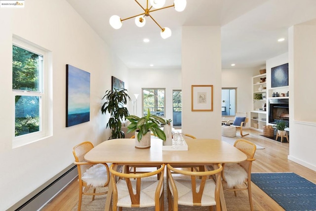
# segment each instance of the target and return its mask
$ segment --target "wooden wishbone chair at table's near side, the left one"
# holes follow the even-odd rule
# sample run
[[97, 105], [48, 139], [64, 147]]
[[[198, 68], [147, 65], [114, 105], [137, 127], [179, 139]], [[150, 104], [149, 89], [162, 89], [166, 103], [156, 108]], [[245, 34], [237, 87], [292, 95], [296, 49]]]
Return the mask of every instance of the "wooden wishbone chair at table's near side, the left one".
[[[165, 164], [157, 170], [145, 173], [122, 173], [116, 171], [117, 164], [110, 166], [113, 191], [113, 211], [118, 208], [155, 207], [164, 210], [163, 176], [159, 180], [151, 176], [163, 175]], [[119, 178], [116, 180], [116, 176]]]

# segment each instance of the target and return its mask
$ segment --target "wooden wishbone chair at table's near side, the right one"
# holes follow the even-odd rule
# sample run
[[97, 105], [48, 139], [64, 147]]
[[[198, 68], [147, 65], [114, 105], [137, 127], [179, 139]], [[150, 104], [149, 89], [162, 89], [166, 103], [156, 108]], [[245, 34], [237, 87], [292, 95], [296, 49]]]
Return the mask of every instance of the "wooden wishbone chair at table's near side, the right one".
[[[169, 211], [178, 211], [178, 205], [183, 206], [215, 206], [221, 210], [220, 187], [223, 167], [217, 164], [217, 169], [209, 171], [187, 171], [173, 168], [167, 164], [167, 192]], [[172, 176], [172, 172], [186, 177]]]

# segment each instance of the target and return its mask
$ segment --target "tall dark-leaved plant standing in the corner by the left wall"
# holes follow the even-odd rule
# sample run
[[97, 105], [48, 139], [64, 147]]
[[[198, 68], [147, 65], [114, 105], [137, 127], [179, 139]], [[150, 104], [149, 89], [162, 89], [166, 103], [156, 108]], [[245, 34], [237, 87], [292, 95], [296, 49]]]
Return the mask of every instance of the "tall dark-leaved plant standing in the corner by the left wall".
[[121, 131], [124, 117], [129, 115], [127, 108], [125, 107], [127, 100], [131, 100], [128, 94], [126, 93], [127, 89], [120, 88], [113, 90], [109, 89], [105, 92], [105, 95], [102, 99], [105, 99], [105, 103], [101, 107], [102, 114], [109, 112], [111, 117], [107, 123], [107, 128], [110, 127], [112, 130], [112, 135], [110, 139], [114, 138], [124, 138], [125, 134]]

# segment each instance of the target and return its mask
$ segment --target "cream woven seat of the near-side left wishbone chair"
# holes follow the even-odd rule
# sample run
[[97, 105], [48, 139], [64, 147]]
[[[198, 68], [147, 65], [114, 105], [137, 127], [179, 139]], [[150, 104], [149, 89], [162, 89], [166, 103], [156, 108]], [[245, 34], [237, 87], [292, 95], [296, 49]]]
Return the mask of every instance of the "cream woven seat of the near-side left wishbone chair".
[[[133, 192], [136, 193], [136, 180], [130, 180], [132, 183]], [[140, 191], [140, 207], [155, 207], [155, 192], [158, 186], [159, 180], [142, 179], [141, 191]], [[127, 184], [125, 180], [118, 180], [118, 207], [131, 208], [132, 201], [128, 192]], [[160, 190], [160, 196], [163, 188]]]

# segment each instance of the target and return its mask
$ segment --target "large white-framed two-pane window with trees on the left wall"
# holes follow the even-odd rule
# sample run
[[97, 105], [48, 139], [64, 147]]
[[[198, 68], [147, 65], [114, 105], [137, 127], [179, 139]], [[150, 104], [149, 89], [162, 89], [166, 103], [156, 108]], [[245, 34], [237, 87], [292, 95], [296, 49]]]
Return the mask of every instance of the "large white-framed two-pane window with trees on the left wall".
[[43, 49], [29, 42], [13, 39], [12, 92], [16, 138], [35, 140], [46, 135], [45, 55]]

